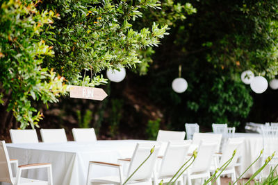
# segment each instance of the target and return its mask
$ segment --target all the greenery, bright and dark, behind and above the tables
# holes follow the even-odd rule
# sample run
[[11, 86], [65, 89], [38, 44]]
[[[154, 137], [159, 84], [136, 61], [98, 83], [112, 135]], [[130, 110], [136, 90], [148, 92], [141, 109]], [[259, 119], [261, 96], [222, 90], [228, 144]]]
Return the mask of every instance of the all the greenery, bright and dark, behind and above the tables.
[[[277, 1], [1, 1], [0, 139], [33, 125], [154, 139], [185, 123], [244, 132], [246, 122], [278, 122], [278, 90], [255, 94], [240, 80], [247, 69], [277, 76], [277, 10]], [[179, 65], [183, 94], [171, 87]], [[104, 79], [121, 66], [122, 82]], [[66, 85], [108, 97], [70, 98]]]

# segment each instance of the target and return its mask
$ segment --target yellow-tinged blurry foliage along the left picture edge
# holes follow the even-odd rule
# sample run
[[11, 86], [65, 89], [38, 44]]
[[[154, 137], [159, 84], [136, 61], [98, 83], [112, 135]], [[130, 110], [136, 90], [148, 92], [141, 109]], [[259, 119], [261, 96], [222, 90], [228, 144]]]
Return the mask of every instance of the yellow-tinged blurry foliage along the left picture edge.
[[65, 94], [65, 79], [42, 67], [44, 56], [54, 54], [53, 46], [39, 39], [43, 26], [52, 24], [57, 16], [51, 10], [38, 12], [35, 6], [38, 2], [6, 1], [0, 9], [0, 88], [6, 100], [1, 103], [13, 111], [22, 128], [33, 127], [42, 118], [40, 112], [33, 115], [37, 110], [31, 99], [53, 103]]

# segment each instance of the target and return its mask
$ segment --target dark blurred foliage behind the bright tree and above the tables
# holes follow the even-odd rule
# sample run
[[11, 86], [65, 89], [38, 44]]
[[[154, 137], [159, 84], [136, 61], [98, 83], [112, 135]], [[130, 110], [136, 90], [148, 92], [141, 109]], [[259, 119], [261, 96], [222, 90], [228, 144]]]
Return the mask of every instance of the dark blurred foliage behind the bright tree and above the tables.
[[[199, 123], [203, 132], [211, 131], [211, 123], [228, 123], [244, 132], [246, 122], [278, 122], [278, 91], [255, 94], [240, 80], [247, 69], [268, 82], [277, 75], [276, 1], [189, 1], [195, 13], [187, 2], [163, 1], [162, 10], [147, 9], [131, 21], [135, 29], [153, 21], [169, 24], [170, 35], [158, 48], [138, 51], [142, 63], [127, 70], [124, 81], [100, 86], [108, 93], [104, 101], [64, 97], [49, 109], [36, 105], [44, 112], [40, 126], [66, 127], [68, 133], [95, 127], [99, 139], [154, 139], [158, 128], [184, 130], [184, 123]], [[79, 58], [78, 52], [70, 55]], [[171, 87], [179, 65], [188, 82], [183, 94]]]

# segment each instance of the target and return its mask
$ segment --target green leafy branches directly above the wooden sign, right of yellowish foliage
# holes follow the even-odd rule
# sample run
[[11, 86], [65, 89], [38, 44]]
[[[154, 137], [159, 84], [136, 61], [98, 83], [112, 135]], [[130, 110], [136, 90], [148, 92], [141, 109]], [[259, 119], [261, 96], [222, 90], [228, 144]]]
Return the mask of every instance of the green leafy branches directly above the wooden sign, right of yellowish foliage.
[[[142, 17], [142, 10], [160, 7], [156, 0], [136, 1], [44, 1], [42, 9], [60, 14], [51, 31], [43, 35], [54, 45], [55, 57], [45, 64], [54, 67], [70, 82], [79, 80], [81, 71], [88, 77], [107, 68], [135, 67], [138, 51], [158, 46], [167, 33], [167, 25], [133, 29], [132, 22]], [[161, 27], [161, 28], [160, 28]], [[99, 85], [92, 78], [87, 85]], [[89, 80], [90, 82], [90, 80]]]

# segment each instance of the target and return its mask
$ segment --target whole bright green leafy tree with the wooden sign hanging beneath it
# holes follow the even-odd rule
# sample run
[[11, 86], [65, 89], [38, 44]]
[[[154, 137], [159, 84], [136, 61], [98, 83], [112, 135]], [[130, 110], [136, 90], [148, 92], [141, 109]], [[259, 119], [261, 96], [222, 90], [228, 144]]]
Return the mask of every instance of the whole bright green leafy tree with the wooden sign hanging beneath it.
[[[4, 1], [0, 9], [2, 109], [12, 111], [22, 129], [33, 127], [43, 116], [32, 105], [35, 101], [58, 101], [67, 84], [103, 84], [106, 80], [96, 75], [101, 70], [134, 67], [140, 63], [138, 51], [158, 46], [167, 26], [154, 23], [152, 29], [133, 30], [130, 21], [142, 16], [140, 10], [159, 6], [156, 0], [136, 4]], [[91, 75], [84, 73], [81, 78], [82, 70], [90, 70]], [[12, 112], [3, 116], [3, 127], [10, 124]]]

